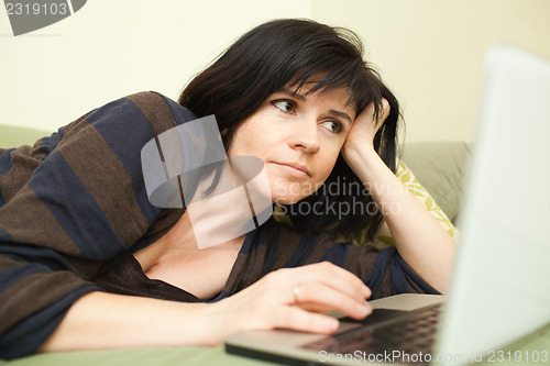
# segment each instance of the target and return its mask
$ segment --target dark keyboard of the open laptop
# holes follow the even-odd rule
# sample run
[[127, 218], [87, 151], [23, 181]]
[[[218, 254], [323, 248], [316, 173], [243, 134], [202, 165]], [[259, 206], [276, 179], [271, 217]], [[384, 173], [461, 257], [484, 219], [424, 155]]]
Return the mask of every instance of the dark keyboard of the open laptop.
[[[308, 343], [302, 348], [330, 354], [392, 355], [392, 362], [419, 364], [418, 355], [431, 354], [441, 304], [417, 311], [374, 309], [362, 326]], [[350, 318], [342, 319], [343, 321]], [[354, 321], [358, 322], [358, 321]], [[421, 363], [420, 363], [421, 364]]]

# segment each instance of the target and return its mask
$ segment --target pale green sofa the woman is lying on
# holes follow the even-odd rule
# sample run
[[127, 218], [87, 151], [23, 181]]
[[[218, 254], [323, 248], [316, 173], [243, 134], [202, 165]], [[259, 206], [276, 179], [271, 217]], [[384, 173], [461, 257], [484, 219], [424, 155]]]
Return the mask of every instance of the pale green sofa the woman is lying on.
[[[22, 144], [33, 144], [44, 132], [28, 127], [0, 125], [0, 147], [15, 147]], [[438, 203], [449, 220], [457, 222], [460, 203], [463, 196], [463, 181], [471, 155], [470, 145], [464, 142], [415, 142], [407, 143], [403, 148], [403, 162], [414, 171], [418, 182], [426, 188], [429, 197]], [[408, 173], [406, 173], [408, 174]], [[408, 179], [408, 178], [407, 178]], [[407, 180], [405, 179], [405, 180]], [[402, 178], [404, 180], [404, 178]], [[550, 333], [550, 332], [548, 332]], [[546, 340], [546, 341], [544, 341]], [[548, 342], [550, 334], [535, 339], [521, 347], [542, 350], [537, 342]], [[534, 343], [535, 342], [535, 343]], [[546, 348], [548, 344], [546, 344]], [[527, 348], [527, 350], [529, 350]], [[0, 366], [25, 365], [273, 365], [226, 354], [223, 347], [151, 347], [110, 351], [67, 352], [40, 354], [4, 362]], [[483, 363], [482, 363], [483, 365]], [[488, 364], [487, 364], [488, 365]]]

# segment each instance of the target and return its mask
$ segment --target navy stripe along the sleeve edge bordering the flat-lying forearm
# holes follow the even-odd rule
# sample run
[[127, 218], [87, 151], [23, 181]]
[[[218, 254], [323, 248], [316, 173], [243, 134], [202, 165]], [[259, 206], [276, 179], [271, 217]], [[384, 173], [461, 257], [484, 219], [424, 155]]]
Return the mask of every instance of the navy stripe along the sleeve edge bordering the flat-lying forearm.
[[76, 300], [98, 290], [100, 289], [91, 285], [79, 287], [42, 311], [19, 322], [2, 335], [0, 358], [10, 359], [34, 353], [59, 325]]

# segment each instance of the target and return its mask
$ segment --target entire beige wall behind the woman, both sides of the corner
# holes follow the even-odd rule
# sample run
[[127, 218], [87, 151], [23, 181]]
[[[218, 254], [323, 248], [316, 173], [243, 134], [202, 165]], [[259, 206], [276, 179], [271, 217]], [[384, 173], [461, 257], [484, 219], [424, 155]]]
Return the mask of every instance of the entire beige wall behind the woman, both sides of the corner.
[[402, 101], [408, 141], [473, 138], [490, 44], [550, 58], [549, 0], [90, 0], [18, 37], [0, 11], [0, 123], [55, 130], [135, 91], [177, 98], [240, 34], [275, 18], [356, 31]]

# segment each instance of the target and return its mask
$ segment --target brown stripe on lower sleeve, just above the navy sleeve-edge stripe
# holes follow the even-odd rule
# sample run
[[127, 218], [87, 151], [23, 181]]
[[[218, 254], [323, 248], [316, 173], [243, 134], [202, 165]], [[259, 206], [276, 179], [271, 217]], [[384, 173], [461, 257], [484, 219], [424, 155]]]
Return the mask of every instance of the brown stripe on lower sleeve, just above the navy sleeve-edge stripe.
[[86, 281], [66, 270], [22, 278], [0, 293], [0, 334], [84, 284]]

